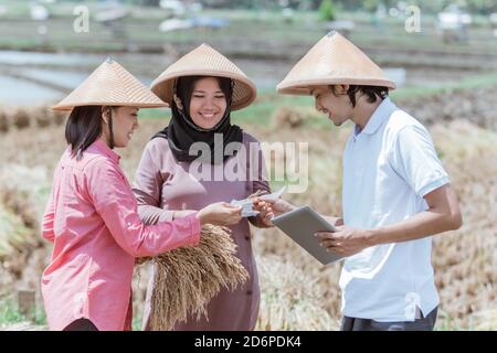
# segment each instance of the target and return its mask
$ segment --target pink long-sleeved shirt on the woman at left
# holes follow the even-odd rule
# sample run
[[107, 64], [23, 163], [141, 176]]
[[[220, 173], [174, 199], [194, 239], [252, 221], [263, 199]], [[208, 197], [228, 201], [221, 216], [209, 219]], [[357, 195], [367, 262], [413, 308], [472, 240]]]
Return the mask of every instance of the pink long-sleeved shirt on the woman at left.
[[41, 290], [51, 330], [89, 319], [98, 330], [129, 328], [135, 257], [197, 245], [195, 215], [141, 223], [119, 156], [95, 141], [77, 161], [67, 149], [54, 173], [42, 235], [54, 243]]

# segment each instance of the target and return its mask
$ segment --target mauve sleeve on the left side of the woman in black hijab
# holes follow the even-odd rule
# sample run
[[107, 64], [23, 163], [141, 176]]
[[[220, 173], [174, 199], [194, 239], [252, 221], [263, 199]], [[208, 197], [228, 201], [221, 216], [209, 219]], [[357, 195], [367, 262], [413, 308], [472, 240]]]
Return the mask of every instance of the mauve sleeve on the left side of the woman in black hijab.
[[160, 169], [154, 161], [150, 145], [147, 145], [133, 185], [133, 192], [138, 202], [138, 214], [145, 224], [172, 221], [173, 211], [160, 207], [162, 183]]

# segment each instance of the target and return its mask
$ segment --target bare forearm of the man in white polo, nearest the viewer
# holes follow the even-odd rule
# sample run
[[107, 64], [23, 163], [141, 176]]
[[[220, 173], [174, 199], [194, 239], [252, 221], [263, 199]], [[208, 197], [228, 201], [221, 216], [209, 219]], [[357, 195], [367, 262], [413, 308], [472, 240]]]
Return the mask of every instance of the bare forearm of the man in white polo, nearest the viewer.
[[424, 238], [458, 228], [451, 216], [435, 211], [417, 213], [409, 220], [368, 231], [371, 246]]

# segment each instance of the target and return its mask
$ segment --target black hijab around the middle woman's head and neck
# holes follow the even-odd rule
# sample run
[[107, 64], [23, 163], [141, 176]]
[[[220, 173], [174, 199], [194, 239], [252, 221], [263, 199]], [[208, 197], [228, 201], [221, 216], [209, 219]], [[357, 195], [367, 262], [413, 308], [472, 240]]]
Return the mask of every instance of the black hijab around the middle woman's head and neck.
[[[214, 156], [221, 153], [224, 162], [231, 156], [224, 156], [223, 147], [230, 142], [242, 143], [242, 129], [235, 125], [231, 125], [231, 103], [233, 96], [232, 81], [225, 77], [215, 77], [219, 86], [226, 98], [226, 110], [221, 120], [211, 129], [203, 129], [197, 126], [190, 117], [190, 100], [193, 93], [193, 87], [197, 81], [208, 76], [183, 76], [178, 78], [175, 85], [175, 94], [180, 99], [181, 104], [172, 99], [171, 113], [172, 117], [163, 130], [156, 133], [154, 138], [165, 138], [169, 142], [169, 148], [177, 161], [191, 162], [199, 158], [199, 156], [190, 156], [190, 146], [194, 142], [205, 142], [210, 147], [211, 157], [210, 162], [214, 164], [216, 160]], [[179, 105], [179, 106], [178, 106]], [[181, 107], [182, 106], [182, 107]], [[222, 146], [214, 146], [214, 133], [222, 133]], [[218, 143], [219, 145], [219, 143]], [[216, 151], [215, 148], [220, 151]], [[199, 152], [200, 154], [200, 152]], [[218, 154], [219, 156], [219, 154]]]

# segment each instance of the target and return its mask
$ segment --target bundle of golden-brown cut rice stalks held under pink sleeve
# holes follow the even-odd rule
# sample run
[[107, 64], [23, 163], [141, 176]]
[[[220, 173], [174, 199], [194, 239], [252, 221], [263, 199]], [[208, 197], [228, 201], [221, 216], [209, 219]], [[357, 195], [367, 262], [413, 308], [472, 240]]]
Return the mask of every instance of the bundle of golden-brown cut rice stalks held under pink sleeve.
[[155, 257], [150, 329], [171, 330], [177, 321], [187, 321], [190, 315], [197, 320], [208, 317], [207, 304], [222, 287], [233, 290], [248, 279], [235, 254], [230, 229], [205, 225], [198, 246]]

